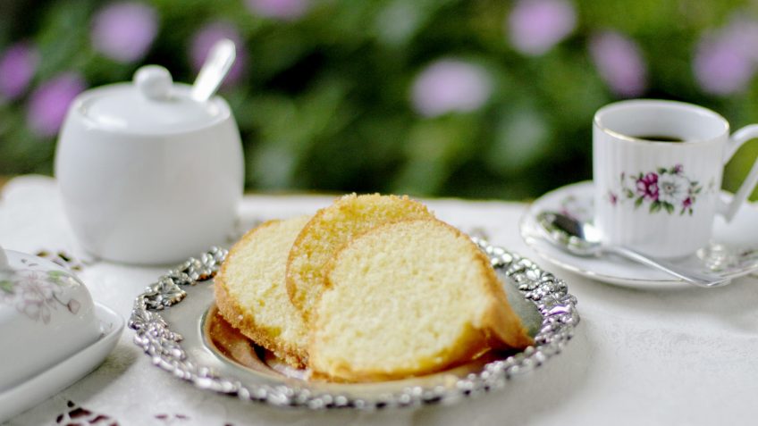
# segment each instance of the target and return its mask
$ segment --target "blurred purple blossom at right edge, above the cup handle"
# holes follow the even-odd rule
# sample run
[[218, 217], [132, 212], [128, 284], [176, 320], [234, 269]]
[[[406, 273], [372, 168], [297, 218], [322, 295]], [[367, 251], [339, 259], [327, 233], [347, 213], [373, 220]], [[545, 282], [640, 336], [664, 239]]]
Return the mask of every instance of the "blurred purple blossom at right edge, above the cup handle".
[[[705, 34], [695, 49], [695, 79], [703, 91], [729, 95], [744, 91], [755, 73], [752, 45], [745, 46], [745, 35], [735, 32]], [[754, 54], [754, 53], [753, 53]]]

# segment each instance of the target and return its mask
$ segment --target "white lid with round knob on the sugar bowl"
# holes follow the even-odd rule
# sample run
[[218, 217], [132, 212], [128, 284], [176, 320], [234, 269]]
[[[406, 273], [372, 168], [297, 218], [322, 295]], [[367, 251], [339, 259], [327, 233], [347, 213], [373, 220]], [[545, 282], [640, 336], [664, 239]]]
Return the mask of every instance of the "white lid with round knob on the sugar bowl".
[[164, 67], [146, 65], [131, 82], [88, 90], [74, 108], [98, 128], [137, 134], [191, 131], [229, 116], [221, 98], [199, 102], [190, 94]]

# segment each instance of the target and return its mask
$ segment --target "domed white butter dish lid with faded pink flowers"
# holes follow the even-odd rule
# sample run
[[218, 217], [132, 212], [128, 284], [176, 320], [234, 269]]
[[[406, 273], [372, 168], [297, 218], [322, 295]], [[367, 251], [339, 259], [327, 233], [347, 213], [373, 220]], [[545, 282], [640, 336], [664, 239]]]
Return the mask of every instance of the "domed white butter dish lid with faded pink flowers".
[[87, 287], [61, 265], [0, 247], [0, 392], [92, 344], [101, 331]]

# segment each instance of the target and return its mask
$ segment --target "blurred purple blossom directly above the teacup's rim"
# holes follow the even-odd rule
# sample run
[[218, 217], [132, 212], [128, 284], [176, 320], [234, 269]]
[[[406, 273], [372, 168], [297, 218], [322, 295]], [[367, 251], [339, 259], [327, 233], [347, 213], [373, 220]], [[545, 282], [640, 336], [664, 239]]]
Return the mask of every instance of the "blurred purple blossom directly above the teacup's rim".
[[634, 40], [605, 31], [590, 40], [590, 54], [600, 77], [619, 96], [639, 96], [647, 86], [647, 67]]

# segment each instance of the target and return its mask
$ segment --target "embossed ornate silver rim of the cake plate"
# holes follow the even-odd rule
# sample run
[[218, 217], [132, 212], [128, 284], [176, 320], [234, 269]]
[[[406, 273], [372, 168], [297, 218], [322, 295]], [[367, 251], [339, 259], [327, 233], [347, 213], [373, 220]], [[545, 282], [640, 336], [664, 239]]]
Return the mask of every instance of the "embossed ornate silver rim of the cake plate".
[[388, 407], [411, 407], [430, 404], [451, 404], [464, 397], [473, 397], [503, 388], [512, 377], [532, 372], [554, 355], [558, 355], [574, 334], [579, 322], [577, 298], [569, 294], [563, 280], [543, 271], [536, 263], [484, 239], [472, 238], [486, 253], [495, 269], [510, 277], [521, 295], [533, 303], [542, 316], [535, 345], [527, 347], [504, 360], [484, 364], [479, 372], [450, 385], [423, 388], [408, 386], [399, 392], [384, 392], [375, 397], [352, 397], [294, 386], [291, 381], [279, 384], [242, 383], [213, 368], [198, 363], [181, 347], [182, 336], [170, 329], [158, 311], [169, 309], [187, 296], [184, 286], [210, 280], [227, 254], [212, 247], [199, 258], [190, 258], [147, 287], [134, 301], [129, 327], [135, 330], [134, 343], [141, 347], [152, 362], [164, 371], [172, 372], [195, 387], [281, 407], [308, 409], [351, 408], [375, 410]]

